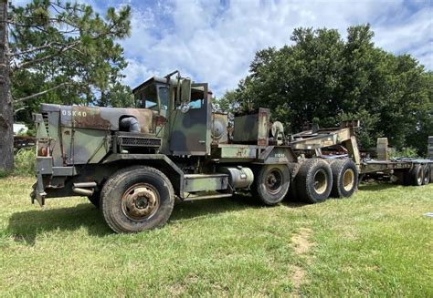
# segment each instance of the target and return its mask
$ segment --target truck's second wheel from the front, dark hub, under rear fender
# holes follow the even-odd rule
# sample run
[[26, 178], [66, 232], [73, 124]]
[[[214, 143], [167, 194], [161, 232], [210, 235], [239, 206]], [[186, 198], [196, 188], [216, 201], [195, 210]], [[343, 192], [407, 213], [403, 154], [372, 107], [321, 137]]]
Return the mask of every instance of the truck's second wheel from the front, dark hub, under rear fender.
[[290, 170], [287, 165], [260, 167], [252, 187], [253, 196], [268, 206], [277, 205], [290, 187]]

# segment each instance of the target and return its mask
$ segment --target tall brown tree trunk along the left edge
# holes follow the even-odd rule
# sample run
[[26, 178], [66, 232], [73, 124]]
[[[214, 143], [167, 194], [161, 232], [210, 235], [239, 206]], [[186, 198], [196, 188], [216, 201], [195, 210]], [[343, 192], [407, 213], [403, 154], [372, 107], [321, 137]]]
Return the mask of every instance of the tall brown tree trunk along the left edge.
[[7, 0], [0, 0], [0, 170], [14, 170], [14, 105], [10, 94]]

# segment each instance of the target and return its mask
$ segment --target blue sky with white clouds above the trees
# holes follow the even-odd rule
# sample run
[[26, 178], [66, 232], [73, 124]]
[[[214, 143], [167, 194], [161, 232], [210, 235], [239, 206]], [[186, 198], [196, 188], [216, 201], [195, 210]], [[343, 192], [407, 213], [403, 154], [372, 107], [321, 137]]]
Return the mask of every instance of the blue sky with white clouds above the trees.
[[[24, 2], [23, 0], [17, 1]], [[408, 53], [433, 69], [433, 0], [90, 0], [101, 14], [132, 6], [132, 36], [120, 40], [129, 63], [124, 83], [136, 87], [175, 69], [207, 82], [216, 97], [248, 75], [255, 53], [290, 45], [296, 27], [336, 28], [369, 23], [375, 46]]]

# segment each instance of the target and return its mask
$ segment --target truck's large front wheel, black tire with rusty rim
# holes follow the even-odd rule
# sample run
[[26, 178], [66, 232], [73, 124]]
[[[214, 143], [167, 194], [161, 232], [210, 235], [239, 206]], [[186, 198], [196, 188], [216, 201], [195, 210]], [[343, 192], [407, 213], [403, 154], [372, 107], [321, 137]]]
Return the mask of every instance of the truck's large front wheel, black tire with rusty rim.
[[113, 174], [102, 188], [101, 209], [112, 231], [159, 228], [174, 208], [172, 183], [160, 170], [134, 166]]

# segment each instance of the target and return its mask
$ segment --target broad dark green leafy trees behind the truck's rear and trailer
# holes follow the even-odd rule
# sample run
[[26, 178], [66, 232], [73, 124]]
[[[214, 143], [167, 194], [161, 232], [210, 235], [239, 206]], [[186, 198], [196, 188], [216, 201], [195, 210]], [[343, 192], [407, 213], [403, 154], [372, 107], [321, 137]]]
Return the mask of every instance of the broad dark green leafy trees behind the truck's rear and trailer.
[[292, 44], [259, 50], [249, 74], [219, 99], [232, 112], [270, 108], [288, 131], [306, 123], [335, 127], [359, 119], [364, 149], [387, 137], [396, 149], [427, 152], [433, 135], [433, 73], [410, 55], [394, 55], [373, 42], [369, 25], [297, 28]]

